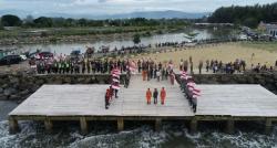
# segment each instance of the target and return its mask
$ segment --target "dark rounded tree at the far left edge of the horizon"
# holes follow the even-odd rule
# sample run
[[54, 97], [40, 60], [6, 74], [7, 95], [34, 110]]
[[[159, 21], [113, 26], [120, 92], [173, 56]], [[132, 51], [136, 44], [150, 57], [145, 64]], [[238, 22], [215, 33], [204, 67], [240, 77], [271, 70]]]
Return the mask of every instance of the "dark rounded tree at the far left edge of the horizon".
[[12, 14], [2, 15], [1, 22], [3, 27], [20, 27], [22, 24], [22, 21]]

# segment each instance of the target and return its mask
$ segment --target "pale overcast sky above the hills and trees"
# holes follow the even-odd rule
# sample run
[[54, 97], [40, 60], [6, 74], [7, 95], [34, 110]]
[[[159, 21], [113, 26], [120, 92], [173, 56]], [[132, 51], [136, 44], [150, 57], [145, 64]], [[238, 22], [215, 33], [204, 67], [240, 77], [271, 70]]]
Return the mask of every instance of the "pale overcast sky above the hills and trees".
[[117, 14], [176, 10], [213, 12], [219, 7], [273, 3], [276, 0], [0, 0], [0, 13], [18, 15]]

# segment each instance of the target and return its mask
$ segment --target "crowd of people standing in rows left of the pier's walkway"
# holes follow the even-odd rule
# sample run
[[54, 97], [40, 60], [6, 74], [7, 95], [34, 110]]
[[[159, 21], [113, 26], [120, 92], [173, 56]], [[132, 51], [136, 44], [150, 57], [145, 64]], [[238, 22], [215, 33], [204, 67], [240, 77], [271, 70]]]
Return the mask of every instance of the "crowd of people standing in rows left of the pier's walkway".
[[29, 64], [38, 74], [106, 74], [113, 67], [126, 72], [129, 60], [72, 60], [68, 57], [54, 57], [48, 60], [30, 60]]

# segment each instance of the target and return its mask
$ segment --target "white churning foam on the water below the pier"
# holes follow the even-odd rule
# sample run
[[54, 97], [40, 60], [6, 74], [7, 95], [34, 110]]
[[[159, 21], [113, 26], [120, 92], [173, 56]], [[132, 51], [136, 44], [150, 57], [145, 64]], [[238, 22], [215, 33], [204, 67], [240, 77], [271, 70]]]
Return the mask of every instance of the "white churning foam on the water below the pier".
[[227, 135], [216, 129], [208, 129], [191, 135], [184, 125], [164, 123], [161, 131], [154, 131], [152, 126], [138, 126], [134, 129], [126, 129], [116, 133], [103, 125], [95, 125], [96, 129], [91, 130], [88, 136], [82, 136], [79, 126], [69, 126], [66, 130], [55, 129], [54, 134], [44, 133], [42, 124], [32, 121], [20, 123], [21, 131], [9, 135], [8, 121], [0, 121], [0, 147], [69, 147], [69, 148], [156, 148], [156, 147], [276, 147], [277, 126], [271, 135], [263, 135], [255, 131], [237, 131], [235, 135]]

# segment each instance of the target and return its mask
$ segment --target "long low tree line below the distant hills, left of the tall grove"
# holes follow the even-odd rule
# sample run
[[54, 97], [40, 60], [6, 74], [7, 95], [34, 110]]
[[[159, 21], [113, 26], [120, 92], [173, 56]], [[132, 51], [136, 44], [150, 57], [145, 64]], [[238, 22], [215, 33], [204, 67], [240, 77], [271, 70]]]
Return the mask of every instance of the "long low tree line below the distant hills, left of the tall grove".
[[0, 19], [1, 27], [22, 27], [22, 28], [71, 28], [71, 27], [155, 27], [155, 25], [186, 25], [185, 19], [115, 19], [115, 20], [89, 20], [89, 19], [65, 19], [40, 17], [33, 19], [28, 15], [20, 19], [17, 15], [6, 14]]

